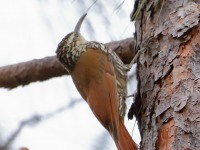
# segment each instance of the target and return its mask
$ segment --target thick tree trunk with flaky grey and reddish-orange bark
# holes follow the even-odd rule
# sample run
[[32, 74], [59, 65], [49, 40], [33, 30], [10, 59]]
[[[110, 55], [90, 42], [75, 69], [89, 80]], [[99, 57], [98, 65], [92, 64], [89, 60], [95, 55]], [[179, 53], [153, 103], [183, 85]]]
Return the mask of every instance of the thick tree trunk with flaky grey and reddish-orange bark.
[[138, 120], [141, 149], [200, 149], [200, 1], [140, 0], [135, 7], [137, 47], [146, 51], [129, 117]]

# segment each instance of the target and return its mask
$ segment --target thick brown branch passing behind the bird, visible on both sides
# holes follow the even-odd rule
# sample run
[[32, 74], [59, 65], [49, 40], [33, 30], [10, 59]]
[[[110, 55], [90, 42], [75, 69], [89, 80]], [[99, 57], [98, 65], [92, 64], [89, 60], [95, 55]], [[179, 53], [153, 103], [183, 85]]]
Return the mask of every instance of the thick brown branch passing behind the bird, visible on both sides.
[[[106, 43], [124, 63], [129, 63], [135, 55], [134, 39]], [[58, 62], [56, 56], [34, 59], [27, 62], [0, 67], [0, 87], [8, 89], [28, 85], [31, 82], [44, 81], [52, 77], [68, 74]]]

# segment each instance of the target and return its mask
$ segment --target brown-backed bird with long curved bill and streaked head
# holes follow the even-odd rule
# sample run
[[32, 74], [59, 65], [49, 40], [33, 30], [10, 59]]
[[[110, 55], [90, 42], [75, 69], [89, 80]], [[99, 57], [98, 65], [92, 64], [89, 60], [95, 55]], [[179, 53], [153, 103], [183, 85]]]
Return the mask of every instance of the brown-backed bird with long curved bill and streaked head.
[[82, 98], [112, 136], [118, 150], [137, 150], [124, 125], [127, 71], [118, 55], [104, 44], [87, 41], [80, 33], [87, 13], [73, 32], [58, 44], [56, 54]]

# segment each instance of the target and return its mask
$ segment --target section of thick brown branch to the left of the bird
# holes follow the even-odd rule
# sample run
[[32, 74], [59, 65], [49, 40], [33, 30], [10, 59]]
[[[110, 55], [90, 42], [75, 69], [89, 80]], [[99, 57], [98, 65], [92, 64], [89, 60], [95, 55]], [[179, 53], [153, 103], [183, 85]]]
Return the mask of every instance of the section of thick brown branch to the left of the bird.
[[47, 80], [51, 77], [66, 74], [55, 56], [34, 59], [0, 68], [0, 87], [15, 88], [35, 81]]

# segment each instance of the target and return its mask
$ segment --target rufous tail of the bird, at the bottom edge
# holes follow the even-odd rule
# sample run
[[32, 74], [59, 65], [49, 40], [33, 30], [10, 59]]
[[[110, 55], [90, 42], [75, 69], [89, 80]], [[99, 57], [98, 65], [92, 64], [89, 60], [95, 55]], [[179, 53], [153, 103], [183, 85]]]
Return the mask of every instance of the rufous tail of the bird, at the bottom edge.
[[119, 121], [119, 137], [116, 145], [118, 150], [138, 150], [137, 144], [133, 141], [121, 120]]

